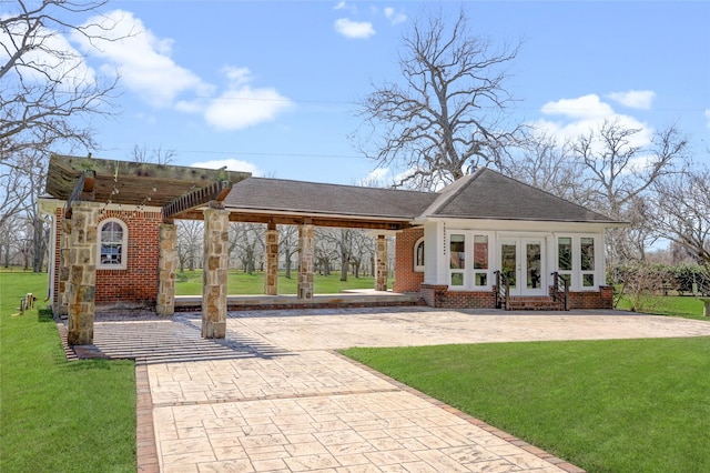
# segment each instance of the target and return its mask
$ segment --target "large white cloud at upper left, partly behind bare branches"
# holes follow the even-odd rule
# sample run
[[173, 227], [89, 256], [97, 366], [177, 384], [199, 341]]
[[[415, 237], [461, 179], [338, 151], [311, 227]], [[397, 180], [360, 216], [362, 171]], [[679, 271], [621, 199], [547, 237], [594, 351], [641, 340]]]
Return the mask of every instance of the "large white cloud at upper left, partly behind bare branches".
[[74, 34], [73, 40], [92, 57], [106, 61], [105, 73], [114, 70], [130, 90], [154, 107], [170, 107], [184, 92], [211, 93], [212, 87], [192, 71], [178, 66], [170, 57], [172, 40], [155, 37], [133, 13], [114, 10], [90, 19], [89, 39]]

